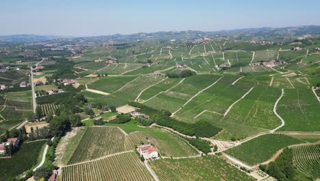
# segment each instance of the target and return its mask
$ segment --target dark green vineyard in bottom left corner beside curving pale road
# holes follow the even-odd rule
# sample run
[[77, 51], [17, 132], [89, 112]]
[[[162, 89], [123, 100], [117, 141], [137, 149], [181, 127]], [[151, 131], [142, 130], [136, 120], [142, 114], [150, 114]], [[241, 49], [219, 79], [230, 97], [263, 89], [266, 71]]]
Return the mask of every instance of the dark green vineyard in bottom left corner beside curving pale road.
[[45, 140], [23, 143], [12, 158], [0, 159], [0, 181], [15, 178], [36, 165], [40, 151], [45, 143]]

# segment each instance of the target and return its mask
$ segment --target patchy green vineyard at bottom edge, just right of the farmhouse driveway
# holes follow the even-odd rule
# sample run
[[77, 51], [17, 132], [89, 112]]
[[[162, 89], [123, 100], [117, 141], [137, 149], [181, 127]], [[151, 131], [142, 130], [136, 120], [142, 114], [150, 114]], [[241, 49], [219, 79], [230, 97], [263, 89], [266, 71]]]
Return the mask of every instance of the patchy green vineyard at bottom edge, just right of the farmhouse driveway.
[[159, 180], [254, 180], [217, 156], [165, 158], [149, 165]]

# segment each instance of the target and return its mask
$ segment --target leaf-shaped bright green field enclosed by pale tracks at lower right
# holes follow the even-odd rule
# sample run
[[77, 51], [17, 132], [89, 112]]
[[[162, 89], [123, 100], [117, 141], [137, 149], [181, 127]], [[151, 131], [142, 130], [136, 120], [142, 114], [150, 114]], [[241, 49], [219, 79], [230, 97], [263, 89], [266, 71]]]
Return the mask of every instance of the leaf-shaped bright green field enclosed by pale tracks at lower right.
[[274, 156], [278, 150], [299, 143], [302, 141], [284, 134], [265, 134], [228, 149], [226, 154], [246, 162], [248, 165], [256, 165]]

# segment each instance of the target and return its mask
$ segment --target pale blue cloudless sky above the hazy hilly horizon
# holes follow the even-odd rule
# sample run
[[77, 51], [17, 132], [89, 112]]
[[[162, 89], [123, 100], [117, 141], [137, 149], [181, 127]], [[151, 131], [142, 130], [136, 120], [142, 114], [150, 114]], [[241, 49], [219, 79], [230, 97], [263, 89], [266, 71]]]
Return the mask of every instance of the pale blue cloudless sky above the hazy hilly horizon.
[[98, 36], [320, 25], [319, 7], [315, 0], [2, 0], [0, 35]]

